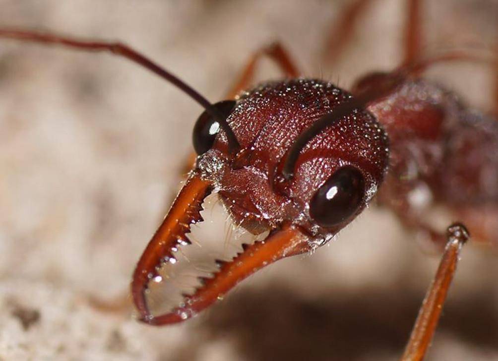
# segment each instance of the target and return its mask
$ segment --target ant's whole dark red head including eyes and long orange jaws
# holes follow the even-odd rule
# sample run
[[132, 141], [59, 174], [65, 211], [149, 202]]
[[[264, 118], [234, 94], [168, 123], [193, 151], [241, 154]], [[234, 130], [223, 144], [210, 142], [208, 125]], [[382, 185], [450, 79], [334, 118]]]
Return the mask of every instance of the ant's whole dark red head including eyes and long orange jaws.
[[[196, 167], [135, 270], [132, 292], [144, 322], [192, 317], [258, 269], [329, 241], [366, 207], [387, 167], [387, 136], [355, 102], [330, 83], [298, 79], [263, 84], [201, 115]], [[218, 120], [231, 133], [219, 131]], [[213, 190], [236, 224], [269, 234], [243, 244], [232, 260], [216, 261], [218, 270], [192, 294], [153, 316], [147, 284], [161, 262], [176, 263], [174, 252], [188, 244], [189, 225], [202, 221], [202, 202]]]

